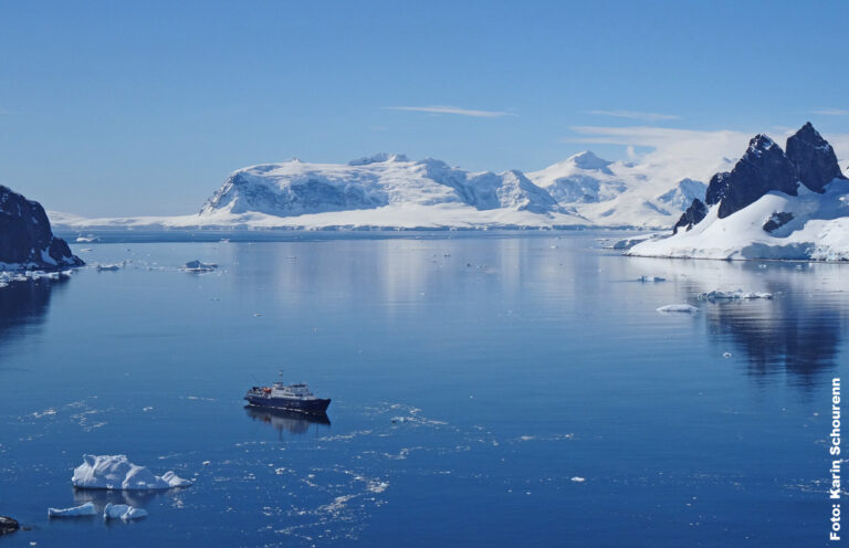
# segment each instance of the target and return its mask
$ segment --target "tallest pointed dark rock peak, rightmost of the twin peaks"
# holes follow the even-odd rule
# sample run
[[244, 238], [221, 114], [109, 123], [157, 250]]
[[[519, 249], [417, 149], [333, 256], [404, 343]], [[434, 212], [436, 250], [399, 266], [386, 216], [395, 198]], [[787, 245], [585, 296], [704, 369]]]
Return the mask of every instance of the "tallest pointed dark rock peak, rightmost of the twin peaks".
[[787, 159], [798, 169], [803, 185], [814, 192], [824, 192], [824, 187], [835, 179], [846, 179], [835, 149], [810, 122], [787, 139]]

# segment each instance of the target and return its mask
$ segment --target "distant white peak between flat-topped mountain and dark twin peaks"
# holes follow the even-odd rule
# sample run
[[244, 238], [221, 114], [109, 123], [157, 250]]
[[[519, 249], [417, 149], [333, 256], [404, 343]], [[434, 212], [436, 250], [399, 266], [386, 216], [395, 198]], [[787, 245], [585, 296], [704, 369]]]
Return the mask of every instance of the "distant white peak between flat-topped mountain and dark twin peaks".
[[591, 224], [661, 228], [671, 225], [694, 198], [704, 198], [706, 188], [686, 177], [672, 179], [664, 168], [607, 161], [587, 150], [527, 176]]

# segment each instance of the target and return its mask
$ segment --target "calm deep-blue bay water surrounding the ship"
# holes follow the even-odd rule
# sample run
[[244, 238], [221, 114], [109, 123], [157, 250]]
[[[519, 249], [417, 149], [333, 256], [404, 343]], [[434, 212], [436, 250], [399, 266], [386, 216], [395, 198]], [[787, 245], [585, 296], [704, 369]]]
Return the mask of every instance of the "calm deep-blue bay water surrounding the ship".
[[[0, 289], [0, 515], [32, 527], [0, 545], [827, 545], [849, 265], [602, 236], [74, 245], [129, 262]], [[775, 298], [695, 299], [737, 287]], [[281, 368], [329, 424], [243, 408]], [[49, 521], [122, 500], [73, 491], [83, 453], [196, 484], [128, 496], [138, 523]]]

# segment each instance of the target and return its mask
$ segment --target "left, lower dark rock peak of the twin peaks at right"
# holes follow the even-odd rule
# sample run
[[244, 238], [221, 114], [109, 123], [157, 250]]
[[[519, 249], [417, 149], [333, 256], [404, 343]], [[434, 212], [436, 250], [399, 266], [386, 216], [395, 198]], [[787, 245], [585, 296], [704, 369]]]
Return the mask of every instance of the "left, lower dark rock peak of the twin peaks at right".
[[724, 219], [769, 192], [796, 196], [798, 173], [784, 150], [766, 135], [756, 135], [734, 169], [711, 178], [705, 194], [708, 205], [720, 204]]

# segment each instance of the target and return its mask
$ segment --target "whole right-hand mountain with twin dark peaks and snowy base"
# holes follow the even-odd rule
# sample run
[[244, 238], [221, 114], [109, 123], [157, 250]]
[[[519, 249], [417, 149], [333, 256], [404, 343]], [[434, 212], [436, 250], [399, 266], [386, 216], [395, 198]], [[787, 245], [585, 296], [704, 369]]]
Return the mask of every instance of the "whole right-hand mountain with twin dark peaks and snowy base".
[[711, 178], [663, 239], [628, 254], [699, 259], [849, 260], [849, 181], [810, 123], [787, 139], [787, 152], [755, 136], [731, 171]]

